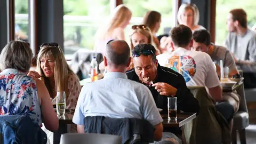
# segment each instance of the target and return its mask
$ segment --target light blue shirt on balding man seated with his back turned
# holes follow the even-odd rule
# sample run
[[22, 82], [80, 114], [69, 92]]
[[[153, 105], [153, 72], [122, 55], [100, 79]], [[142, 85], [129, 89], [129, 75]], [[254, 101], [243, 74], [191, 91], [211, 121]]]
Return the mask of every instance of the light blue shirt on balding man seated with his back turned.
[[73, 122], [84, 125], [86, 116], [141, 118], [152, 125], [163, 121], [148, 87], [117, 72], [82, 87]]

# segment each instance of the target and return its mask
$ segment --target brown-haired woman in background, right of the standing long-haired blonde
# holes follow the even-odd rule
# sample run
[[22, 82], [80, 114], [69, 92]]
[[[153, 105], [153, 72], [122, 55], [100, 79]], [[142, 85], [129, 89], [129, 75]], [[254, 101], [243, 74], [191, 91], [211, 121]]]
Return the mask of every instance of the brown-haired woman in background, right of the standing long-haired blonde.
[[[153, 34], [154, 44], [156, 45], [158, 50], [161, 50], [161, 47], [158, 38], [156, 37], [156, 33], [160, 28], [161, 21], [161, 13], [157, 11], [148, 11], [144, 15], [142, 20], [142, 24], [148, 26], [149, 29], [151, 30], [151, 33]], [[161, 53], [163, 53], [162, 50]]]

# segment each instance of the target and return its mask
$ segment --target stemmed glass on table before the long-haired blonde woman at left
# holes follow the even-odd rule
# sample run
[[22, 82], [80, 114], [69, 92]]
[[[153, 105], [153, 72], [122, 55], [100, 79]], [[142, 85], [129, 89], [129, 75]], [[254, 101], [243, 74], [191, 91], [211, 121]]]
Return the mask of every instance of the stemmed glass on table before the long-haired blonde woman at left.
[[66, 110], [66, 93], [57, 92], [57, 99], [56, 99], [56, 109], [58, 117], [63, 117], [65, 115]]

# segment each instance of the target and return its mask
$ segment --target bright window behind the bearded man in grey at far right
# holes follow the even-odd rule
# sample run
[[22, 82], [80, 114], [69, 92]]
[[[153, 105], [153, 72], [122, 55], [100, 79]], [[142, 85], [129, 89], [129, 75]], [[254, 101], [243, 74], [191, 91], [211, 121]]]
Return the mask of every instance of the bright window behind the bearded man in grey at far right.
[[216, 43], [225, 44], [228, 34], [226, 21], [230, 10], [242, 8], [247, 13], [248, 26], [252, 27], [256, 23], [255, 15], [256, 3], [254, 0], [237, 1], [237, 0], [217, 0], [216, 5]]

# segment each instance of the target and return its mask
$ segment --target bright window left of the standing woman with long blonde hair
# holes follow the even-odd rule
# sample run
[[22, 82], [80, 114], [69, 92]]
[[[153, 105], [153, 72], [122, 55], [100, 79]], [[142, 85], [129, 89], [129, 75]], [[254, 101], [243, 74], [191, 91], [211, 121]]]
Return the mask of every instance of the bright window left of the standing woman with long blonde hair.
[[110, 14], [109, 0], [64, 0], [65, 54], [93, 49], [94, 35]]

